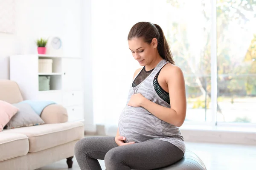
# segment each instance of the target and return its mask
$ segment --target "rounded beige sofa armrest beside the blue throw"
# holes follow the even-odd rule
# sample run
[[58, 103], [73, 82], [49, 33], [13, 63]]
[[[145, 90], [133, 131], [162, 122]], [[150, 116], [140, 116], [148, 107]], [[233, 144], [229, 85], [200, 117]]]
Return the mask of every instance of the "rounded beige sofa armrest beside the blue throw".
[[41, 119], [43, 119], [46, 124], [67, 122], [67, 109], [62, 105], [48, 105], [42, 111]]

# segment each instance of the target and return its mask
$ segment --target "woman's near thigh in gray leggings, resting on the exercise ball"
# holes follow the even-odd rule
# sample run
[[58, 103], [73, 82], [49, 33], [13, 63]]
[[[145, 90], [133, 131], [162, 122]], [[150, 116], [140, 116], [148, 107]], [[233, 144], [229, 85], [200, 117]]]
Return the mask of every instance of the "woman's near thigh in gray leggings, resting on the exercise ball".
[[149, 140], [109, 150], [105, 164], [112, 162], [127, 165], [132, 170], [151, 170], [174, 164], [183, 156], [183, 152], [169, 142]]

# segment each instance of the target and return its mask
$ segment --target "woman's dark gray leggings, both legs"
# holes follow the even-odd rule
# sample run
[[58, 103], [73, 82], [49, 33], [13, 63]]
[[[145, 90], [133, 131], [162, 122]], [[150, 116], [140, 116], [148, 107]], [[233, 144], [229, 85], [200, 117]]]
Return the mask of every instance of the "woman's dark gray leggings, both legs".
[[179, 161], [183, 152], [160, 140], [118, 146], [115, 137], [85, 137], [76, 143], [75, 156], [81, 170], [152, 170]]

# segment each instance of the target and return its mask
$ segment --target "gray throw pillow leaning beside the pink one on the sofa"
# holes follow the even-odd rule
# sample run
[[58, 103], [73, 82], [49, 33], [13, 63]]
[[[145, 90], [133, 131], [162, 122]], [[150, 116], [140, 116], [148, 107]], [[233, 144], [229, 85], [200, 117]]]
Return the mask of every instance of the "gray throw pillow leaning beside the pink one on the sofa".
[[29, 104], [15, 103], [12, 105], [18, 108], [19, 111], [7, 123], [6, 129], [44, 124], [44, 121], [35, 113]]

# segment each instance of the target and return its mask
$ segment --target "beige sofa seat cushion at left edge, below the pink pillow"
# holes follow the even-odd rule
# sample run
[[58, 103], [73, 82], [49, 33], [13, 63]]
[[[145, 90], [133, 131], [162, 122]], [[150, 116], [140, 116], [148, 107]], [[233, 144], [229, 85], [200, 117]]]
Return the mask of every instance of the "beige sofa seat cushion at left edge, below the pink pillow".
[[0, 161], [26, 155], [29, 152], [29, 139], [19, 133], [0, 133]]

